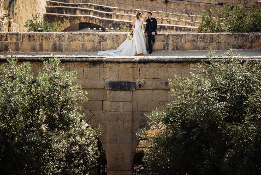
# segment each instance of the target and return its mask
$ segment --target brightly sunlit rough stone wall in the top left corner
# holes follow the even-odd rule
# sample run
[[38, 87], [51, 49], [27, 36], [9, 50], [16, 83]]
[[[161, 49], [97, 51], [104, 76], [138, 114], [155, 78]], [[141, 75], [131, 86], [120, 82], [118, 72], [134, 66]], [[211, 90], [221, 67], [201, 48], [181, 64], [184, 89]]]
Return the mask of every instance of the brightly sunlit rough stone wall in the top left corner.
[[[40, 13], [40, 19], [43, 21], [45, 12], [45, 0], [1, 0], [3, 2], [2, 12], [6, 12], [8, 23], [5, 23], [5, 32], [27, 31], [23, 27], [25, 21], [32, 18], [32, 14]], [[8, 26], [6, 26], [8, 25]], [[8, 28], [9, 27], [9, 28]], [[7, 29], [7, 30], [6, 30]]]

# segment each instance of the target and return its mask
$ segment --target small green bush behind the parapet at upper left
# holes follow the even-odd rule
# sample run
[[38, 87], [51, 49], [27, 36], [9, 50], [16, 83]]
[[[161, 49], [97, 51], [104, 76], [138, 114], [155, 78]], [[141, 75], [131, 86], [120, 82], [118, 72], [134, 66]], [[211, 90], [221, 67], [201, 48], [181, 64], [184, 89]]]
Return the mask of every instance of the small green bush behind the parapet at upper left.
[[59, 21], [49, 23], [48, 21], [39, 21], [40, 13], [35, 15], [32, 14], [32, 17], [33, 19], [26, 20], [25, 25], [23, 26], [28, 28], [28, 32], [62, 32], [66, 26], [65, 24], [68, 22], [65, 21], [62, 23]]

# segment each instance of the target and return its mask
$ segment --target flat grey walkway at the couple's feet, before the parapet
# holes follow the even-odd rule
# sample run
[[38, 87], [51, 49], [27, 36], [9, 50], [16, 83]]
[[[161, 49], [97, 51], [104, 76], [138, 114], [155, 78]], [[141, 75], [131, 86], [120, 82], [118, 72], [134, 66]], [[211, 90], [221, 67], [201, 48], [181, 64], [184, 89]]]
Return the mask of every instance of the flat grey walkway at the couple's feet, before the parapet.
[[[261, 48], [260, 50], [233, 50], [237, 51], [241, 56], [261, 56]], [[152, 54], [141, 54], [139, 56], [207, 56], [208, 51], [176, 51], [176, 52], [153, 52]], [[5, 53], [0, 52], [0, 55], [3, 55]], [[49, 52], [14, 52], [14, 55], [51, 55]], [[53, 53], [54, 55], [97, 55], [96, 52], [58, 52]], [[226, 56], [225, 51], [216, 51], [214, 56], [223, 55]], [[137, 56], [136, 56], [137, 57]]]

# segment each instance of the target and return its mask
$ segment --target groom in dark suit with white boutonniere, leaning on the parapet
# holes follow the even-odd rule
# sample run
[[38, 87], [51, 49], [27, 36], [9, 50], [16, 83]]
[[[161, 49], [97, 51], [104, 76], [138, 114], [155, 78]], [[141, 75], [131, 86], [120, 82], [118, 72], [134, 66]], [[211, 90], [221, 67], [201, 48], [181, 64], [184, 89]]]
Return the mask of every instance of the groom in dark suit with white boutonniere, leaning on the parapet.
[[155, 35], [157, 35], [157, 20], [156, 18], [152, 17], [152, 12], [148, 11], [147, 12], [147, 20], [146, 20], [146, 28], [144, 31], [145, 35], [148, 35], [148, 42], [149, 42], [149, 54], [152, 53], [152, 46], [151, 46], [151, 41], [154, 43], [155, 42]]

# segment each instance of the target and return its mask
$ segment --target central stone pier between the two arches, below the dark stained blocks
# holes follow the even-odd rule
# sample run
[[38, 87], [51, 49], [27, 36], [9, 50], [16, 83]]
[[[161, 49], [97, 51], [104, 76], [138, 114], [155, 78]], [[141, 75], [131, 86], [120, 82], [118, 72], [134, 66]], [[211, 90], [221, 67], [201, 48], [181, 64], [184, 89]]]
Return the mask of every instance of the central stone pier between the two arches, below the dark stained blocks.
[[107, 174], [133, 174], [132, 150], [133, 91], [107, 90], [103, 110], [107, 112]]

